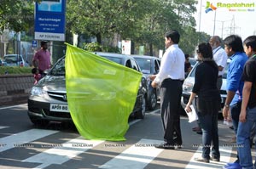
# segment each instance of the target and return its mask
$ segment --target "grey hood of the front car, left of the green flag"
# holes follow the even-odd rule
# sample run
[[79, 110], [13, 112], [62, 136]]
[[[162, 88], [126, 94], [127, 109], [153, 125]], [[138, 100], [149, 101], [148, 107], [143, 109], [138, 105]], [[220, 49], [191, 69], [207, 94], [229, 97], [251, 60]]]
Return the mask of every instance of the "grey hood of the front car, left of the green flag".
[[47, 91], [63, 91], [66, 93], [66, 78], [65, 76], [44, 76], [37, 86], [44, 87]]

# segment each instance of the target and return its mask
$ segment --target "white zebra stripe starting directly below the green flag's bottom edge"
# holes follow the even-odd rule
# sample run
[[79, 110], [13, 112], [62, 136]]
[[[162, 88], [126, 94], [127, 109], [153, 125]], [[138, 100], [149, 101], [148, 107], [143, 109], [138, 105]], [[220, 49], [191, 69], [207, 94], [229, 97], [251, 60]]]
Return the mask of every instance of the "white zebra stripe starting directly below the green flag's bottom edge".
[[44, 168], [52, 164], [61, 165], [84, 151], [87, 151], [98, 144], [102, 144], [103, 142], [104, 141], [85, 140], [82, 137], [74, 138], [60, 146], [47, 149], [38, 155], [33, 155], [32, 157], [24, 160], [24, 162], [42, 163], [34, 169]]

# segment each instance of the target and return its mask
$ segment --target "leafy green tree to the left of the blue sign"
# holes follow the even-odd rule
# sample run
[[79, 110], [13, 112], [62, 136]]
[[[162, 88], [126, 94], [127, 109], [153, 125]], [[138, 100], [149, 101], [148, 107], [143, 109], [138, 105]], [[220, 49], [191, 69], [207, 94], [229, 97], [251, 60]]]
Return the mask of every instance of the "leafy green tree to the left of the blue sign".
[[41, 0], [1, 0], [0, 29], [27, 31], [34, 24], [34, 3]]

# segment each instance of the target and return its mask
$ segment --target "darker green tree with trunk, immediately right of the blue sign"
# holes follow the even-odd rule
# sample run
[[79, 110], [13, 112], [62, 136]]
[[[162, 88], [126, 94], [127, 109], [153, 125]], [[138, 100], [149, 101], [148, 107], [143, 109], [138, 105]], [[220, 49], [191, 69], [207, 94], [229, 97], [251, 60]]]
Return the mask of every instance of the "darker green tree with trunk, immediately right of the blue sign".
[[113, 37], [114, 33], [130, 37], [145, 9], [146, 0], [69, 0], [67, 25], [73, 33], [96, 37]]

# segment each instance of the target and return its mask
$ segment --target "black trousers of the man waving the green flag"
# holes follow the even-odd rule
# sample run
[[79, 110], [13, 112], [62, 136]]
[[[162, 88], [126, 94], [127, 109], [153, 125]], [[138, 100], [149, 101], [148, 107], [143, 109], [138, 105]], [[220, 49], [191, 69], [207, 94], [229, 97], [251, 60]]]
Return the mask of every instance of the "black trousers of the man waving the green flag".
[[160, 110], [165, 131], [164, 139], [168, 144], [182, 144], [179, 115], [181, 95], [181, 81], [165, 79], [161, 83]]

